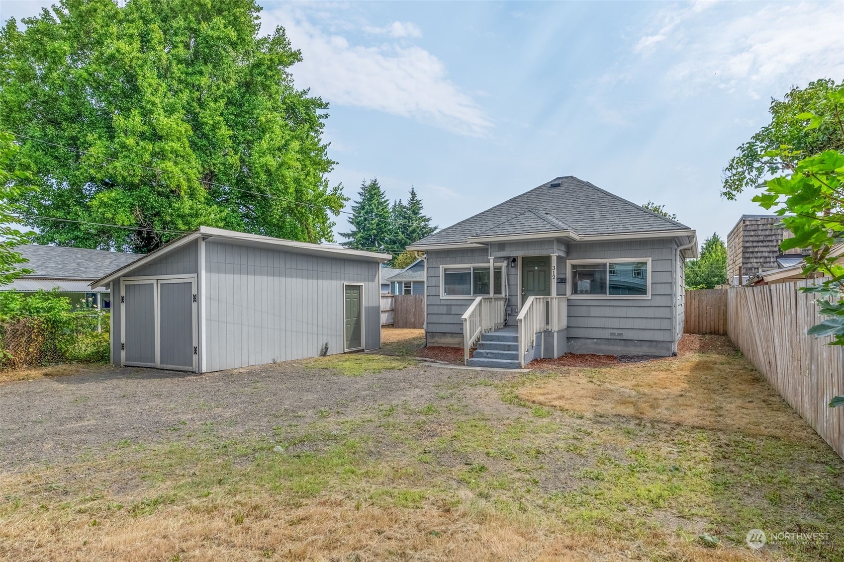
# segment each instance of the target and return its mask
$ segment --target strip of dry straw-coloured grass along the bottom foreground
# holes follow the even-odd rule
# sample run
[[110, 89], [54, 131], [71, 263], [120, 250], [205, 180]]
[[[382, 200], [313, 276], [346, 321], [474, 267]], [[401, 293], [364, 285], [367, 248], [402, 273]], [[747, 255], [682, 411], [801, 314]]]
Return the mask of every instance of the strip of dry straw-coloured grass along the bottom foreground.
[[[95, 521], [95, 523], [94, 523]], [[0, 558], [35, 560], [758, 560], [655, 531], [643, 541], [518, 521], [483, 511], [379, 508], [322, 498], [290, 509], [269, 496], [193, 502], [133, 517], [45, 513], [9, 518]]]

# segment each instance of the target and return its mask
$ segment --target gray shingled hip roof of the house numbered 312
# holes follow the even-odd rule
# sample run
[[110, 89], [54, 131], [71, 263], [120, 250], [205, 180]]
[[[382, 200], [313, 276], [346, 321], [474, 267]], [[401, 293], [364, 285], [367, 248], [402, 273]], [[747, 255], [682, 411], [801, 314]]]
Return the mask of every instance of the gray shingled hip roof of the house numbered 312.
[[678, 235], [693, 233], [685, 224], [641, 208], [588, 181], [565, 176], [452, 224], [411, 247], [465, 243], [475, 236], [560, 231], [576, 236], [648, 232], [671, 235], [672, 231], [677, 231]]

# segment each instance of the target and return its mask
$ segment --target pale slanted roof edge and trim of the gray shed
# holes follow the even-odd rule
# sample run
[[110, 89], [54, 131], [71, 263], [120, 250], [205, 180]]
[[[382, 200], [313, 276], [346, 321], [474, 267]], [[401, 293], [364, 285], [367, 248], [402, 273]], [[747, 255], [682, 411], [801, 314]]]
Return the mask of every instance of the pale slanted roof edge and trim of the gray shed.
[[392, 256], [390, 254], [381, 254], [375, 251], [349, 250], [343, 246], [327, 245], [327, 244], [311, 244], [311, 242], [297, 242], [295, 240], [284, 240], [283, 238], [273, 238], [272, 236], [253, 235], [246, 232], [237, 232], [235, 230], [216, 229], [210, 226], [200, 226], [197, 230], [182, 235], [176, 240], [173, 240], [166, 246], [161, 246], [159, 249], [150, 251], [145, 256], [138, 257], [135, 261], [115, 269], [111, 273], [97, 279], [91, 284], [92, 287], [98, 287], [111, 283], [116, 278], [129, 273], [133, 269], [143, 266], [146, 263], [152, 262], [170, 251], [176, 250], [181, 246], [189, 244], [193, 240], [202, 238], [203, 240], [220, 240], [224, 242], [238, 242], [244, 246], [257, 247], [273, 247], [282, 251], [295, 251], [300, 254], [310, 256], [328, 256], [339, 257], [341, 259], [357, 259], [368, 262], [386, 262]]

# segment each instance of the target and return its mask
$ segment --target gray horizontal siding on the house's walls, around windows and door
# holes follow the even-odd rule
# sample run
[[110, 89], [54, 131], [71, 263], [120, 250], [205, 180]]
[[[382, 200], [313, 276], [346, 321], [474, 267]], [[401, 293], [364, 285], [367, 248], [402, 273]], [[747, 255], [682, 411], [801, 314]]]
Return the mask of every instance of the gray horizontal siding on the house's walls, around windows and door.
[[[678, 257], [674, 238], [568, 242], [526, 240], [494, 243], [491, 248], [429, 250], [425, 257], [427, 278], [426, 336], [429, 345], [463, 345], [461, 316], [474, 297], [441, 298], [441, 266], [474, 264], [489, 266], [490, 254], [496, 267], [505, 264], [507, 324], [516, 325], [520, 309], [518, 272], [510, 267], [513, 257], [557, 256], [557, 271], [568, 275], [567, 259], [617, 260], [650, 258], [649, 299], [620, 297], [575, 297], [568, 300], [568, 349], [572, 353], [670, 355], [676, 351], [683, 327], [684, 259]], [[566, 277], [567, 278], [567, 277]], [[557, 295], [566, 294], [558, 283]]]

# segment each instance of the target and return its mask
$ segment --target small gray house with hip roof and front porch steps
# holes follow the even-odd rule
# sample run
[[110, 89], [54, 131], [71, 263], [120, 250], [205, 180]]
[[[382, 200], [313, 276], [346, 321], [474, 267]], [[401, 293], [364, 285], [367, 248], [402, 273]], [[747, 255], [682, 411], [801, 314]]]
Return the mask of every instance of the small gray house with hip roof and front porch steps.
[[427, 344], [507, 368], [566, 352], [676, 353], [697, 240], [684, 224], [566, 176], [409, 249], [425, 251]]

